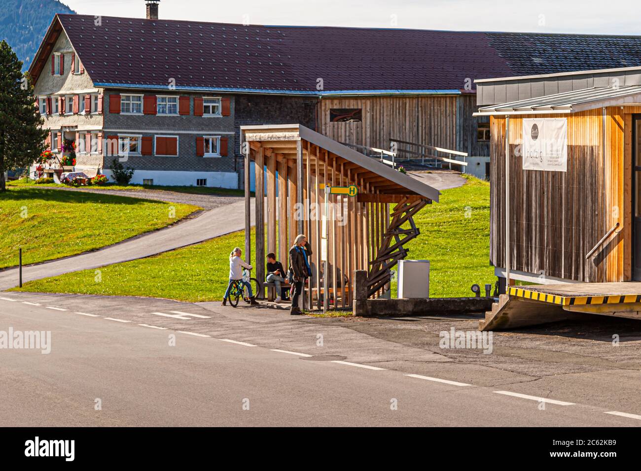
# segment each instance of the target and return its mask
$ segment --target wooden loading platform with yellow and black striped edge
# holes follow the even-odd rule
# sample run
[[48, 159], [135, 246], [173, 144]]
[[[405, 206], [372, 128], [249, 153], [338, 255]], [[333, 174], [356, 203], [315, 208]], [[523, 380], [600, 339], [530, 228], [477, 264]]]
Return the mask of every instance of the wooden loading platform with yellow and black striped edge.
[[641, 283], [511, 286], [479, 321], [479, 330], [534, 326], [583, 314], [641, 319]]

